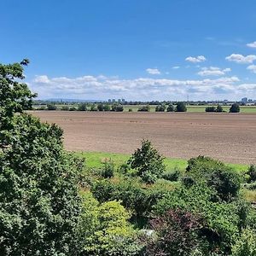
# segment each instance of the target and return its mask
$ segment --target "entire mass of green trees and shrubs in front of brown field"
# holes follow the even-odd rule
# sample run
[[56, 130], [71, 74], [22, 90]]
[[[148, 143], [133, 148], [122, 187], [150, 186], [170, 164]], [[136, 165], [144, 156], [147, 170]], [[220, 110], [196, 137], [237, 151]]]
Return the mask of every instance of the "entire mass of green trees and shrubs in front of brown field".
[[0, 65], [1, 255], [255, 255], [255, 166], [199, 156], [169, 170], [148, 140], [88, 166], [60, 127], [24, 112], [27, 64]]

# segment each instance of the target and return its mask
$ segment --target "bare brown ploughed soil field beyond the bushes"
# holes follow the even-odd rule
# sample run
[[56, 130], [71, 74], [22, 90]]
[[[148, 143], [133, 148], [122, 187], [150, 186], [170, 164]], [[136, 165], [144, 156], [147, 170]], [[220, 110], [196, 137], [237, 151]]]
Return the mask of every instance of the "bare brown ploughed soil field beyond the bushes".
[[189, 159], [202, 154], [227, 163], [256, 163], [253, 113], [32, 114], [62, 127], [67, 150], [131, 154], [145, 138], [166, 157]]

